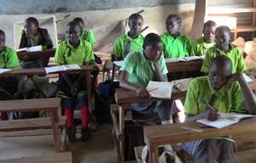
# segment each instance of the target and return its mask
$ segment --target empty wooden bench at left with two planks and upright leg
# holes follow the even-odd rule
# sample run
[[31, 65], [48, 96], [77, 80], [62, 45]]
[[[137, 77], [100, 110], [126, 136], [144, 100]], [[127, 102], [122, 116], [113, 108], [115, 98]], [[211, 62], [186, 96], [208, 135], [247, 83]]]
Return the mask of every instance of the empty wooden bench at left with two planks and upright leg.
[[[59, 132], [59, 122], [61, 113], [60, 98], [40, 98], [26, 100], [8, 100], [0, 101], [1, 112], [30, 112], [30, 111], [47, 111], [50, 117], [37, 119], [22, 119], [13, 121], [0, 121], [0, 132], [15, 132], [35, 129], [52, 128], [55, 140], [55, 151], [61, 151], [61, 137]], [[66, 118], [62, 118], [63, 126]], [[66, 138], [66, 137], [65, 137]]]

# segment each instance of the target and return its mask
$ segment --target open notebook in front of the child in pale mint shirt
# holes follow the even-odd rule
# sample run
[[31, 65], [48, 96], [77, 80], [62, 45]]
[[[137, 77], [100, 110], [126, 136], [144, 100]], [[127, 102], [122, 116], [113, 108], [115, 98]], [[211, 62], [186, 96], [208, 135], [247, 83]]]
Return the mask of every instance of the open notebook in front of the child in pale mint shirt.
[[148, 82], [146, 89], [152, 98], [171, 99], [173, 82]]

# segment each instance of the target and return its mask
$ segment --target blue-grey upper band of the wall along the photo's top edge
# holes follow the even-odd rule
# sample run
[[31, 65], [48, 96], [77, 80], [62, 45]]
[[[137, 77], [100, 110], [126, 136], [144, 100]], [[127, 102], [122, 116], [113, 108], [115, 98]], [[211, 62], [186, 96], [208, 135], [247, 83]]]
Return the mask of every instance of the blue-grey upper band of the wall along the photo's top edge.
[[0, 14], [55, 14], [195, 3], [195, 0], [0, 0]]

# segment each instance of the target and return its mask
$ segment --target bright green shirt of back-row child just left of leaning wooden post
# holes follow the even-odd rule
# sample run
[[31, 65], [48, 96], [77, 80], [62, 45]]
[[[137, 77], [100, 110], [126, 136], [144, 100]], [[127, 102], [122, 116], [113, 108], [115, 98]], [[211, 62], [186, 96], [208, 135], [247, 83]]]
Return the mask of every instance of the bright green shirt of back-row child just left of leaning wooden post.
[[189, 37], [180, 35], [174, 38], [169, 33], [165, 33], [161, 36], [161, 40], [164, 44], [165, 59], [183, 58], [190, 55], [191, 42]]

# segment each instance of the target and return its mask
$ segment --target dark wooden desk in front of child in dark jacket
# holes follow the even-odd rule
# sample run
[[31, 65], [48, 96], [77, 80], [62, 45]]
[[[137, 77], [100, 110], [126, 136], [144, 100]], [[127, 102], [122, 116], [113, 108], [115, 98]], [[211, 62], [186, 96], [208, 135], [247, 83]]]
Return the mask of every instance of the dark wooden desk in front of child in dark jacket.
[[38, 52], [18, 52], [18, 57], [21, 61], [26, 59], [41, 59], [55, 56], [55, 48], [38, 51]]

